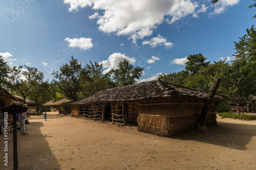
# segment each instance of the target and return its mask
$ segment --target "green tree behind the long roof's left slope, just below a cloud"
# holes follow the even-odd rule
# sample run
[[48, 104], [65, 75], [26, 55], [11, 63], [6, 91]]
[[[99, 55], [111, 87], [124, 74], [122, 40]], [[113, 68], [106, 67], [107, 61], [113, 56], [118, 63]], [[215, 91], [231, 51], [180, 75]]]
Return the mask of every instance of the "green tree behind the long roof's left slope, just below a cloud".
[[136, 81], [139, 80], [143, 74], [143, 68], [138, 66], [134, 67], [129, 61], [123, 60], [119, 62], [117, 68], [112, 68], [109, 74], [113, 75], [113, 79], [118, 86], [126, 86], [135, 84]]

